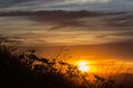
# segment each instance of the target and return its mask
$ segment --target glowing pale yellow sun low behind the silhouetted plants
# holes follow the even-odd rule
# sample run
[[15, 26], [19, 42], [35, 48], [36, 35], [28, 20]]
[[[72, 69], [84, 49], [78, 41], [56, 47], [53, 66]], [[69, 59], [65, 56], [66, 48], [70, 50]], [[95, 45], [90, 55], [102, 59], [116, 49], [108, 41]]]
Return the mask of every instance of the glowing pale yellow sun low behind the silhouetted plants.
[[79, 70], [81, 70], [81, 72], [89, 72], [90, 70], [90, 66], [88, 64], [89, 64], [88, 62], [79, 62], [78, 63]]

